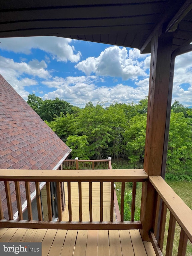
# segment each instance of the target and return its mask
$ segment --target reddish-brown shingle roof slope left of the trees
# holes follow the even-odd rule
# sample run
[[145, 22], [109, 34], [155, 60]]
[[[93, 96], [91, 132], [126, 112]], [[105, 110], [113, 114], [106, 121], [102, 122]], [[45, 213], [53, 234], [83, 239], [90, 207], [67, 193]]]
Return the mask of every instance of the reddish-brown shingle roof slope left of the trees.
[[69, 147], [0, 75], [0, 169], [53, 169]]

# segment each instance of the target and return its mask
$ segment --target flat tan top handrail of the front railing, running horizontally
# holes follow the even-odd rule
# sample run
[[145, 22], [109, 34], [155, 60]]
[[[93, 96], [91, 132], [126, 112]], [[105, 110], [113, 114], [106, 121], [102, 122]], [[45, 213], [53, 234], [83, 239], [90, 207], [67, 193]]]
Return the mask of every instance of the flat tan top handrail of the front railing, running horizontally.
[[104, 170], [0, 170], [1, 181], [145, 181], [147, 173], [143, 169]]

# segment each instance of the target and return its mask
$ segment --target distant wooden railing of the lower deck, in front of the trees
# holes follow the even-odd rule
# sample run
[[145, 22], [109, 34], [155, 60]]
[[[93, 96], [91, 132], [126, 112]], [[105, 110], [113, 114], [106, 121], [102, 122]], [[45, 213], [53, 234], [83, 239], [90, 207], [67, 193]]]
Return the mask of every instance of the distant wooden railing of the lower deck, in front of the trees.
[[81, 160], [81, 159], [72, 159], [72, 160], [64, 160], [63, 169], [71, 169], [71, 170], [88, 170], [88, 169], [112, 169], [111, 167], [111, 159], [104, 160]]

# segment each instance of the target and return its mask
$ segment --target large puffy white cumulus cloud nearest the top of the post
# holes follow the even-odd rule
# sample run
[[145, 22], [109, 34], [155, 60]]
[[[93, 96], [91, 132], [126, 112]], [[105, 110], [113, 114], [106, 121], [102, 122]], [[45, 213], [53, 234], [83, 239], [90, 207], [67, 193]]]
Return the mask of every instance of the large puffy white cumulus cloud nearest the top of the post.
[[122, 77], [123, 80], [147, 76], [139, 65], [134, 65], [133, 59], [128, 58], [127, 49], [118, 46], [108, 47], [98, 57], [89, 57], [75, 67], [86, 75], [95, 73], [100, 76]]

